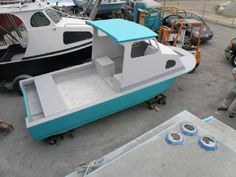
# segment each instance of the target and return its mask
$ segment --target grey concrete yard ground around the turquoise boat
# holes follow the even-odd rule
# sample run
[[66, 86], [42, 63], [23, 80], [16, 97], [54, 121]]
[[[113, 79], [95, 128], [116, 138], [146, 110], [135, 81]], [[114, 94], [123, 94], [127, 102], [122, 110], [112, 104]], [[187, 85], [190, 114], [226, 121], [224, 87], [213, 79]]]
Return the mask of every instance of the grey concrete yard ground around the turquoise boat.
[[58, 145], [35, 141], [25, 128], [23, 98], [0, 91], [0, 119], [15, 131], [0, 137], [1, 177], [63, 177], [82, 161], [90, 162], [188, 110], [200, 118], [216, 116], [233, 128], [236, 118], [216, 110], [229, 90], [232, 66], [224, 57], [228, 41], [236, 30], [210, 24], [214, 38], [202, 46], [202, 62], [194, 74], [180, 77], [165, 92], [167, 105], [160, 112], [140, 104], [75, 130], [75, 138], [65, 137]]

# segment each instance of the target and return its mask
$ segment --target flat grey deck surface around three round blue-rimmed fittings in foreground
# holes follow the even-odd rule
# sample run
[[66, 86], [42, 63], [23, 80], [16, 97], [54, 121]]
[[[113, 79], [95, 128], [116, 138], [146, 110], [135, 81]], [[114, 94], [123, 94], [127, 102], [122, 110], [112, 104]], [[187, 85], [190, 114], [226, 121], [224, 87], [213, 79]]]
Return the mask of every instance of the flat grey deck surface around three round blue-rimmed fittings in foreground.
[[[169, 145], [165, 141], [166, 135], [170, 132], [180, 133], [180, 126], [186, 122], [197, 127], [198, 135], [182, 135], [183, 145]], [[170, 177], [178, 174], [178, 177], [234, 177], [235, 131], [222, 123], [215, 124], [217, 127], [207, 125], [189, 112], [183, 111], [159, 127], [102, 157], [103, 164], [86, 176]], [[217, 140], [218, 148], [215, 151], [206, 151], [199, 146], [199, 137], [205, 135]], [[66, 177], [74, 176], [80, 175], [72, 173]]]

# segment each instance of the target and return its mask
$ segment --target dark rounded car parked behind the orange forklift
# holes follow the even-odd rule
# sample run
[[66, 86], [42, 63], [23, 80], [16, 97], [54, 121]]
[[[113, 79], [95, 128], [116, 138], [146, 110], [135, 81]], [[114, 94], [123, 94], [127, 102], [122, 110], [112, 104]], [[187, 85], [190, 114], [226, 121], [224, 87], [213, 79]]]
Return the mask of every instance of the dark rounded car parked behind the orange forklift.
[[[202, 22], [203, 31], [202, 31], [202, 34], [201, 34], [201, 43], [205, 43], [206, 41], [213, 38], [214, 33], [213, 33], [212, 29], [206, 24], [206, 22], [201, 17], [199, 17], [198, 15], [193, 14], [193, 13], [178, 13], [178, 15], [177, 14], [169, 15], [169, 16], [167, 16], [163, 19], [162, 24], [165, 25], [165, 26], [171, 27], [172, 24], [174, 23], [175, 19], [185, 19], [185, 18], [187, 18], [187, 19], [196, 19], [196, 20]], [[190, 33], [190, 27], [187, 29], [186, 33], [187, 34]], [[199, 33], [198, 28], [193, 29], [193, 36], [192, 36], [193, 41], [197, 41], [198, 33]]]

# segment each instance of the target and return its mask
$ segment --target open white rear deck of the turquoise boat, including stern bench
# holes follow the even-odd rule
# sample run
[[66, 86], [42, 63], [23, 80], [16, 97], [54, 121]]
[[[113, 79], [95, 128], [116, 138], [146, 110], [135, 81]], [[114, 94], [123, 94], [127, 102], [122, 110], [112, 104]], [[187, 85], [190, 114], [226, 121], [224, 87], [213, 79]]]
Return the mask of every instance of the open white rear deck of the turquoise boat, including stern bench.
[[[117, 60], [116, 63], [113, 69], [119, 72], [121, 62]], [[29, 80], [24, 89], [28, 122], [81, 110], [117, 94], [113, 88], [113, 76], [103, 77], [94, 63], [36, 77]]]

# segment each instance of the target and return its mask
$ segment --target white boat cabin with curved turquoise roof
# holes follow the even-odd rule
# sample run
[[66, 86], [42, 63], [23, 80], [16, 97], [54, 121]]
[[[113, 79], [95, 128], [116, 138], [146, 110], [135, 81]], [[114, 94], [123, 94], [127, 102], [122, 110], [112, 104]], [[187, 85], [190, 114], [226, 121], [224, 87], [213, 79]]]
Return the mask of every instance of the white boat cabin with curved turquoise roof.
[[[94, 27], [92, 61], [116, 92], [185, 69], [180, 60], [184, 55], [158, 43], [148, 28], [121, 19], [87, 24]], [[117, 30], [120, 26], [124, 30]]]

